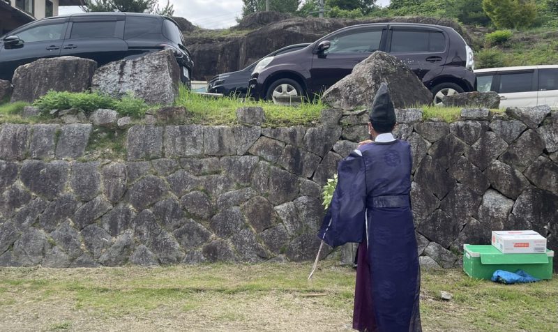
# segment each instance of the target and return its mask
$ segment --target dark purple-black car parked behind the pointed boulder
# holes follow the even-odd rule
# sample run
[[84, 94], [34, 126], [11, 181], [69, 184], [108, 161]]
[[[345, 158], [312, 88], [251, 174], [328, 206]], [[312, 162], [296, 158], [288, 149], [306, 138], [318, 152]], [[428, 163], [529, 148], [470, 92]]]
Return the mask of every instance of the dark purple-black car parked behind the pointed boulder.
[[451, 27], [370, 23], [339, 29], [303, 50], [261, 61], [250, 78], [250, 95], [266, 100], [312, 97], [378, 50], [406, 63], [432, 92], [435, 104], [449, 94], [475, 89], [473, 51]]

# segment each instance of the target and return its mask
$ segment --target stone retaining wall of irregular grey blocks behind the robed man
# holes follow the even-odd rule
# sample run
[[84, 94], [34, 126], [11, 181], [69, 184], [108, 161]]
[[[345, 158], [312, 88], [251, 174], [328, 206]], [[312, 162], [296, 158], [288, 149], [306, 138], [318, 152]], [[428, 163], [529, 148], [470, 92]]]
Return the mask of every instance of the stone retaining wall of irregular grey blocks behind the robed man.
[[[558, 249], [556, 112], [398, 119], [421, 263], [459, 265], [462, 244], [491, 229], [534, 229]], [[133, 126], [127, 160], [84, 158], [90, 124], [1, 125], [0, 266], [312, 259], [320, 186], [366, 121], [324, 110], [314, 128]]]

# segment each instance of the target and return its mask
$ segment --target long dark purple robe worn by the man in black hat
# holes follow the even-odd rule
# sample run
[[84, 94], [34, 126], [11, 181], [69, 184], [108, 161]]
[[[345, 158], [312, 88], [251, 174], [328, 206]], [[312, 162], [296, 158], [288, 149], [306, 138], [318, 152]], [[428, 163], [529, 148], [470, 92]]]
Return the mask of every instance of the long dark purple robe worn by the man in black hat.
[[330, 246], [361, 243], [353, 315], [359, 331], [422, 331], [411, 168], [409, 143], [400, 140], [365, 144], [338, 166], [319, 237]]

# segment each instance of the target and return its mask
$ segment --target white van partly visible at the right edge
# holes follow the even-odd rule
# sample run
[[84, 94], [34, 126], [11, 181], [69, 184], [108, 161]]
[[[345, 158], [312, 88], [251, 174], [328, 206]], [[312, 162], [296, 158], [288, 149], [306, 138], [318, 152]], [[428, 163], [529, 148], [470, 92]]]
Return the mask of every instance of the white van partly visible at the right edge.
[[495, 91], [500, 107], [549, 105], [558, 108], [558, 65], [474, 70], [476, 90]]

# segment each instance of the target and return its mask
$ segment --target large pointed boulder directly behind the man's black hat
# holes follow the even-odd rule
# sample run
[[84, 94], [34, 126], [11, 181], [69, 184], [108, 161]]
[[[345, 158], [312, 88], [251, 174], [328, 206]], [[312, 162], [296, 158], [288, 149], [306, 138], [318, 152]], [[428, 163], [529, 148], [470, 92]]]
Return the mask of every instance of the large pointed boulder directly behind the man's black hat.
[[343, 110], [369, 107], [382, 82], [388, 84], [395, 108], [432, 101], [432, 93], [409, 67], [385, 52], [374, 52], [354, 66], [350, 75], [326, 90], [322, 101]]

